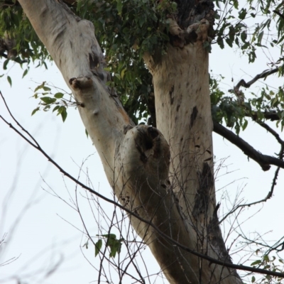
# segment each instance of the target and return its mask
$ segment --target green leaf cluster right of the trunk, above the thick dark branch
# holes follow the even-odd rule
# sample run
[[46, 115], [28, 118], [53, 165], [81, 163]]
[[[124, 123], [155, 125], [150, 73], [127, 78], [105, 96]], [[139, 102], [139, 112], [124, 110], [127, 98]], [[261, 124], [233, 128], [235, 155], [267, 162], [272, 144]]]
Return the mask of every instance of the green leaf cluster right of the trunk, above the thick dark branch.
[[[223, 77], [221, 77], [223, 78]], [[248, 118], [253, 121], [262, 122], [266, 119], [276, 120], [276, 126], [284, 128], [284, 91], [283, 87], [271, 90], [268, 86], [261, 89], [260, 94], [251, 92], [246, 94], [248, 99], [240, 102], [236, 98], [234, 90], [229, 90], [229, 94], [225, 94], [219, 87], [221, 80], [209, 77], [210, 98], [212, 104], [212, 118], [214, 121], [225, 122], [226, 126], [235, 129], [239, 134], [241, 130], [245, 130], [249, 124]], [[244, 92], [241, 92], [245, 98]], [[273, 116], [272, 116], [273, 114]], [[272, 118], [273, 117], [273, 118]], [[275, 119], [275, 117], [277, 119]]]

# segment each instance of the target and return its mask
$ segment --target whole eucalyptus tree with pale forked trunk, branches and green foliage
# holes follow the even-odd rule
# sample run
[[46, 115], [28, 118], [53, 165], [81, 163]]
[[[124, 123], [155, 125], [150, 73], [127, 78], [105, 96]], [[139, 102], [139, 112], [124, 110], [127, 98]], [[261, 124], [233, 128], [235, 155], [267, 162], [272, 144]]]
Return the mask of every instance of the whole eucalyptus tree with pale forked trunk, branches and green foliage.
[[[170, 283], [241, 283], [219, 228], [212, 131], [269, 170], [284, 168], [283, 88], [246, 98], [244, 89], [283, 75], [283, 5], [277, 1], [1, 1], [0, 55], [27, 66], [54, 60], [72, 90], [117, 200]], [[259, 17], [258, 16], [262, 16]], [[253, 18], [249, 29], [246, 20]], [[277, 33], [269, 34], [276, 25]], [[209, 76], [211, 45], [279, 48], [276, 62], [231, 93]], [[214, 56], [214, 54], [212, 54]], [[7, 77], [10, 83], [12, 78]], [[48, 90], [44, 84], [38, 88]], [[65, 120], [63, 94], [40, 109]], [[249, 121], [280, 143], [278, 156], [239, 137]], [[227, 126], [227, 127], [226, 127]], [[229, 129], [231, 128], [231, 130]], [[277, 175], [278, 175], [277, 172]], [[274, 186], [274, 185], [273, 185]], [[242, 267], [247, 269], [246, 267]]]

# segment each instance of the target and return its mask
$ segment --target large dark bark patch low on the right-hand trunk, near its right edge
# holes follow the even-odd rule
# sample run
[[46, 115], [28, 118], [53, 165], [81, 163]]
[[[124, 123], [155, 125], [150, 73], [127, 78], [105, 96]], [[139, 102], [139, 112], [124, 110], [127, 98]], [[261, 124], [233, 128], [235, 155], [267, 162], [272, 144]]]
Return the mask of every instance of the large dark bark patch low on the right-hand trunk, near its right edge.
[[200, 214], [206, 214], [209, 205], [211, 189], [214, 185], [214, 176], [208, 163], [203, 163], [202, 172], [197, 172], [199, 189], [195, 195], [195, 205], [192, 215], [198, 219]]

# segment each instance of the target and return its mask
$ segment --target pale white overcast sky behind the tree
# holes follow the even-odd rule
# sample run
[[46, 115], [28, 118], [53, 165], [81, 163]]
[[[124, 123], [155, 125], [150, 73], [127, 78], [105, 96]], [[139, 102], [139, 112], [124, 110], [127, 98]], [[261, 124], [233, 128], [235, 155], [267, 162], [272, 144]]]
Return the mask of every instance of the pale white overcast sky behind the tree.
[[[214, 74], [226, 77], [222, 89], [227, 91], [239, 80], [250, 80], [251, 76], [254, 77], [268, 69], [266, 61], [265, 56], [258, 55], [256, 64], [248, 66], [246, 59], [234, 53], [234, 50], [224, 51], [214, 46], [209, 68]], [[1, 60], [0, 65], [3, 62], [4, 60]], [[84, 174], [88, 172], [92, 187], [111, 198], [111, 187], [104, 175], [99, 156], [84, 133], [84, 126], [77, 110], [68, 109], [64, 124], [60, 117], [51, 112], [40, 111], [31, 116], [31, 112], [38, 104], [32, 98], [33, 89], [41, 82], [46, 81], [70, 92], [55, 65], [49, 65], [48, 70], [31, 68], [22, 80], [23, 70], [10, 62], [4, 74], [4, 77], [0, 78], [1, 92], [12, 114], [22, 126], [68, 173], [75, 177], [80, 175], [82, 181], [88, 182]], [[9, 86], [6, 75], [12, 78], [12, 87]], [[283, 85], [283, 78], [279, 79], [275, 75], [266, 82], [272, 86]], [[258, 86], [263, 84], [260, 83]], [[259, 92], [259, 89], [254, 89], [254, 92]], [[14, 124], [3, 102], [0, 102], [0, 113]], [[283, 133], [280, 136], [284, 139]], [[273, 137], [254, 123], [249, 124], [246, 131], [241, 133], [241, 137], [261, 153], [274, 155], [279, 151], [279, 146]], [[219, 212], [221, 217], [231, 208], [228, 197], [231, 202], [234, 202], [236, 196], [244, 202], [255, 202], [266, 197], [271, 189], [275, 167], [263, 172], [258, 164], [249, 160], [238, 148], [216, 134], [214, 134], [214, 155], [217, 167], [222, 164], [216, 182], [217, 197], [222, 204]], [[80, 173], [81, 166], [84, 173]], [[95, 267], [99, 266], [99, 258], [94, 258], [93, 246], [88, 250], [82, 248], [86, 238], [80, 232], [83, 228], [80, 217], [66, 202], [48, 193], [54, 190], [63, 200], [70, 203], [70, 195], [75, 197], [75, 184], [63, 177], [41, 153], [29, 146], [2, 121], [0, 121], [0, 190], [0, 237], [7, 233], [6, 243], [0, 249], [0, 263], [18, 257], [8, 266], [0, 266], [0, 283], [16, 283], [16, 280], [11, 279], [14, 276], [29, 284], [75, 284], [97, 280], [97, 272], [84, 258], [82, 251], [87, 253], [87, 258]], [[81, 194], [84, 194], [84, 191]], [[262, 205], [244, 209], [239, 216], [239, 223], [234, 222], [234, 217], [229, 222], [234, 222], [233, 226], [239, 226], [246, 220], [241, 224], [246, 236], [253, 238], [254, 233], [258, 232], [260, 235], [265, 234], [266, 240], [276, 241], [284, 236], [283, 200], [284, 174], [283, 170], [280, 170], [273, 198]], [[82, 202], [80, 204], [84, 220], [95, 236], [98, 234], [97, 224], [83, 197], [80, 197], [80, 202]], [[103, 202], [102, 204], [111, 214], [113, 207]], [[229, 233], [231, 227], [229, 222], [224, 222], [224, 236]], [[227, 246], [230, 246], [236, 234], [229, 236]], [[235, 244], [232, 249], [236, 249]], [[234, 256], [234, 262], [237, 263], [243, 255], [244, 252]], [[150, 273], [155, 273], [158, 266], [153, 257], [150, 253], [145, 253], [145, 258], [147, 263], [151, 263], [148, 266]], [[47, 277], [45, 274], [57, 262], [60, 263], [58, 270], [49, 273]], [[155, 283], [163, 283], [163, 280], [157, 278]]]

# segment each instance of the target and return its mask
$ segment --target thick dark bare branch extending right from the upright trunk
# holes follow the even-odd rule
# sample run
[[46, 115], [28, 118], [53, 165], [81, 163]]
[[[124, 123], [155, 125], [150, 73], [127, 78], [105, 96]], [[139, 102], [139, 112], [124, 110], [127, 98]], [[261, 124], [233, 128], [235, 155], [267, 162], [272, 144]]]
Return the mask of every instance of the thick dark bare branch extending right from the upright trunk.
[[214, 121], [214, 132], [226, 138], [231, 143], [233, 143], [238, 148], [240, 148], [242, 151], [244, 151], [244, 153], [248, 155], [249, 158], [255, 160], [256, 163], [258, 163], [264, 171], [269, 170], [271, 168], [271, 165], [276, 165], [279, 168], [284, 168], [283, 160], [271, 157], [270, 155], [261, 154], [260, 152], [256, 151], [255, 148], [249, 145], [249, 143], [244, 141], [244, 139], [237, 136], [235, 133], [233, 133], [229, 129], [226, 129], [226, 127], [222, 126], [221, 124], [218, 124], [215, 121]]

